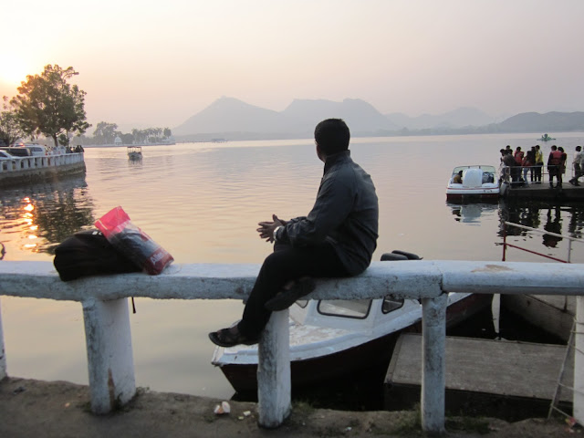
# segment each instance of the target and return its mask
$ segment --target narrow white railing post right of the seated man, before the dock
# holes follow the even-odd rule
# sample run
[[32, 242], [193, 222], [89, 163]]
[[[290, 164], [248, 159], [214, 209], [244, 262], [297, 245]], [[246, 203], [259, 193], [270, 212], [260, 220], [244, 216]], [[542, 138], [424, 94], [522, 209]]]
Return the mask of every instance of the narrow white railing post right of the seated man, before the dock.
[[422, 429], [444, 432], [446, 304], [448, 294], [422, 298]]

